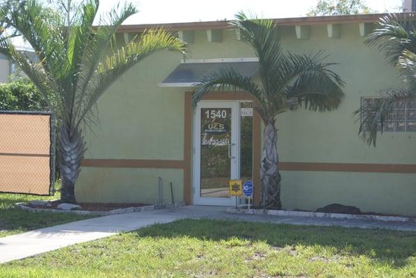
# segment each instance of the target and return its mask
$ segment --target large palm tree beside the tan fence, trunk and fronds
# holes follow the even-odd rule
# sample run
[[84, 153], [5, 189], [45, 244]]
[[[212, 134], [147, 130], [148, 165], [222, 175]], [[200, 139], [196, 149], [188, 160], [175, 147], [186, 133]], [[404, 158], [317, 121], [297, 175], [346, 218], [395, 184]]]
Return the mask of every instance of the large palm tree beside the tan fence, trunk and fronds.
[[42, 1], [27, 0], [1, 18], [31, 44], [39, 63], [32, 63], [10, 40], [0, 40], [0, 52], [29, 76], [58, 115], [58, 160], [61, 199], [76, 202], [75, 181], [86, 152], [83, 126], [97, 120], [96, 104], [111, 84], [146, 56], [161, 49], [185, 51], [184, 43], [167, 31], [145, 31], [125, 47], [115, 49], [115, 31], [136, 8], [127, 3], [97, 20], [99, 0], [83, 1], [77, 9], [51, 13]]

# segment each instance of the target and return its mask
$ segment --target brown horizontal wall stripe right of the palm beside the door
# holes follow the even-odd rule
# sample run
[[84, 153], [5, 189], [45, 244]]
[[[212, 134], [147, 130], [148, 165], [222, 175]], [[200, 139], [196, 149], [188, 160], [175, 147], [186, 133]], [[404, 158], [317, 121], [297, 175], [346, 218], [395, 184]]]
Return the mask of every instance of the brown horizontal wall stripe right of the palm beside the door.
[[416, 174], [416, 164], [282, 162], [280, 170]]

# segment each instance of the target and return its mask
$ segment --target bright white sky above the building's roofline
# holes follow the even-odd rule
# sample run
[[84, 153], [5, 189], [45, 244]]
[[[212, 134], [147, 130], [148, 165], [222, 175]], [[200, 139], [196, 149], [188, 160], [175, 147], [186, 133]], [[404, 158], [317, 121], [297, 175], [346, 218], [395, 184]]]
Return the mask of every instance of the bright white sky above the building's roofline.
[[[139, 13], [125, 24], [154, 24], [173, 22], [199, 22], [233, 19], [239, 10], [251, 11], [261, 17], [301, 17], [318, 0], [130, 0]], [[367, 0], [379, 13], [397, 12], [402, 0]], [[101, 0], [100, 12], [111, 10], [125, 0]]]

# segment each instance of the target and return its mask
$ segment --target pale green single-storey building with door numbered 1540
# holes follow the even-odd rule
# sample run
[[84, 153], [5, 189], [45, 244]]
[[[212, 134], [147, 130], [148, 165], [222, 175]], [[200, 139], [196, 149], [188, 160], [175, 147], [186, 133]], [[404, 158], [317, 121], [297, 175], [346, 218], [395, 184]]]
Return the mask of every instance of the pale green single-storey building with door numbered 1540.
[[[339, 203], [361, 211], [416, 215], [416, 104], [403, 108], [376, 148], [358, 138], [353, 111], [379, 91], [400, 87], [397, 72], [363, 40], [381, 15], [275, 19], [285, 50], [329, 55], [346, 81], [337, 111], [298, 108], [278, 117], [284, 208]], [[158, 25], [160, 26], [160, 25]], [[256, 74], [256, 58], [228, 22], [162, 24], [188, 42], [191, 57], [162, 51], [145, 58], [99, 100], [99, 125], [77, 181], [79, 202], [175, 202], [232, 206], [228, 179], [253, 179], [259, 202], [262, 123], [243, 92], [211, 93], [194, 109], [191, 85], [233, 63]], [[150, 25], [122, 26], [124, 44]], [[211, 115], [223, 137], [207, 136]], [[159, 198], [158, 177], [162, 186]]]

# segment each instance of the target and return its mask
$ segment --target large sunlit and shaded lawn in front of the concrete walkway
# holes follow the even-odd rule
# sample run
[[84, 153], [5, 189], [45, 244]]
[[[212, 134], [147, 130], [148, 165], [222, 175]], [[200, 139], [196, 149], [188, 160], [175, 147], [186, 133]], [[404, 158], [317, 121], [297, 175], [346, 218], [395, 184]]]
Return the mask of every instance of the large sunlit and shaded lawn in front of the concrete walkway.
[[0, 277], [416, 277], [416, 233], [179, 220], [1, 265]]

